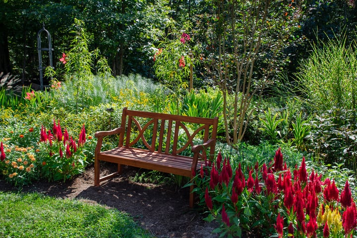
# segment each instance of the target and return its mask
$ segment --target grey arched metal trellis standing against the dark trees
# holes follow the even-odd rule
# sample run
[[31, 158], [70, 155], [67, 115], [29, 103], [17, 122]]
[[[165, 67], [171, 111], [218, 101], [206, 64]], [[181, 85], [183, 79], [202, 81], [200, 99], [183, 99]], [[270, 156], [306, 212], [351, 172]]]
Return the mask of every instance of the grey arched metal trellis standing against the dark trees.
[[[41, 47], [41, 33], [45, 32], [47, 34], [47, 40], [48, 40], [48, 48], [42, 48]], [[43, 24], [42, 29], [39, 30], [37, 33], [37, 50], [38, 50], [38, 55], [39, 55], [39, 70], [40, 70], [40, 89], [41, 91], [44, 89], [43, 85], [43, 71], [46, 69], [46, 67], [51, 66], [53, 67], [52, 64], [52, 42], [51, 42], [51, 34], [48, 30], [45, 29], [45, 24]], [[49, 65], [47, 66], [42, 66], [42, 52], [48, 52], [48, 58], [49, 58]]]

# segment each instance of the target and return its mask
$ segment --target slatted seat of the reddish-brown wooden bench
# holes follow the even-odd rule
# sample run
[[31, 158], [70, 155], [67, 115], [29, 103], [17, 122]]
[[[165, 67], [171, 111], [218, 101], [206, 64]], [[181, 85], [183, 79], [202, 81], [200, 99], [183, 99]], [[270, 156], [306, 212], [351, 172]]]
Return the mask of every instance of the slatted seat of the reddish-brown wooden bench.
[[[192, 158], [185, 156], [163, 154], [130, 147], [117, 147], [101, 152], [98, 159], [164, 173], [191, 176]], [[199, 170], [203, 163], [199, 161], [196, 169]]]

